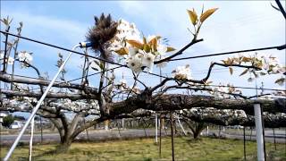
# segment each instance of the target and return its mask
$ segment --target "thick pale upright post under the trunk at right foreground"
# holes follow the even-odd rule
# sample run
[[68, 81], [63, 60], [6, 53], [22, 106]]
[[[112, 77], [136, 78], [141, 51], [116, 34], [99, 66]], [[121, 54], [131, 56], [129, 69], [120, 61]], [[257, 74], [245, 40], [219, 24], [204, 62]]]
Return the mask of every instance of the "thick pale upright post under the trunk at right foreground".
[[262, 133], [262, 118], [261, 118], [261, 108], [260, 104], [254, 105], [254, 114], [256, 119], [256, 133], [257, 133], [257, 160], [264, 161], [264, 143], [263, 143], [263, 133]]

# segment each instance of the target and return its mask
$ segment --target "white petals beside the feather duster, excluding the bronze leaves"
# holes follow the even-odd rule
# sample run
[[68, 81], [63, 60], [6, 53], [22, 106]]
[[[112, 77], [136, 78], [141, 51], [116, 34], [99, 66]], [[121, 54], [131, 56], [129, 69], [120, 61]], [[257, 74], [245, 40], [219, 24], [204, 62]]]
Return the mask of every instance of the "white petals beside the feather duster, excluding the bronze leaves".
[[[147, 37], [147, 42], [154, 38], [157, 37], [155, 35], [149, 35]], [[154, 61], [158, 60], [159, 56], [161, 58], [161, 56], [165, 55], [165, 53], [167, 52], [167, 47], [161, 44], [159, 39], [156, 42], [156, 50], [152, 50], [150, 51], [150, 53], [147, 53], [142, 49], [134, 47], [133, 45], [131, 45], [131, 43], [128, 43], [127, 40], [135, 40], [139, 43], [142, 43], [142, 38], [140, 38], [139, 30], [136, 28], [135, 24], [121, 19], [118, 21], [117, 33], [109, 49], [115, 52], [119, 52], [119, 50], [120, 52], [126, 51], [127, 55], [126, 53], [120, 55], [122, 55], [122, 57], [125, 59], [127, 66], [130, 67], [133, 72], [142, 72], [142, 70], [145, 69], [147, 72], [152, 72]], [[123, 47], [126, 47], [124, 48], [124, 51], [121, 50]], [[160, 65], [164, 67], [166, 63], [158, 64], [157, 66]]]

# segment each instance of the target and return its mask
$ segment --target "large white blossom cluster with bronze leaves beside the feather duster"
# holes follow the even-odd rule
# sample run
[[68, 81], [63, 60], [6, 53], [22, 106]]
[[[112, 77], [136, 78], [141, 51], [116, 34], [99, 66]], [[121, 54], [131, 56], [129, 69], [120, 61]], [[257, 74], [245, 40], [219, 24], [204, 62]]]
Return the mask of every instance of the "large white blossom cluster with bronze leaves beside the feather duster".
[[[109, 50], [121, 55], [133, 72], [152, 72], [154, 61], [164, 58], [166, 52], [173, 51], [165, 46], [159, 36], [140, 37], [140, 32], [134, 23], [125, 20], [118, 21], [117, 34]], [[158, 64], [164, 67], [165, 63]]]

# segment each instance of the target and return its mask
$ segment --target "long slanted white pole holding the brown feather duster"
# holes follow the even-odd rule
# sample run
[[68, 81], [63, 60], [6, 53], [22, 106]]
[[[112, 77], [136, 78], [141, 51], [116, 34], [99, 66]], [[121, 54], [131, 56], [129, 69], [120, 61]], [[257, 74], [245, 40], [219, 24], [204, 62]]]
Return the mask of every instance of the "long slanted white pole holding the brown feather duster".
[[[80, 45], [76, 45], [74, 47], [72, 47], [72, 50], [74, 50], [76, 47], [80, 47]], [[29, 118], [27, 120], [27, 122], [24, 124], [23, 128], [21, 129], [18, 137], [16, 138], [16, 140], [14, 141], [12, 147], [9, 149], [7, 155], [4, 157], [4, 161], [7, 161], [9, 159], [9, 157], [11, 157], [13, 150], [16, 148], [16, 146], [18, 145], [18, 142], [21, 140], [21, 136], [24, 134], [24, 131], [26, 131], [26, 129], [28, 128], [28, 125], [30, 123], [30, 121], [32, 120], [32, 118], [35, 116], [35, 114], [38, 111], [38, 108], [41, 106], [42, 102], [44, 101], [48, 91], [52, 88], [53, 84], [55, 83], [55, 80], [57, 78], [57, 76], [62, 72], [64, 65], [67, 63], [67, 61], [70, 59], [71, 57], [71, 52], [70, 54], [67, 56], [67, 58], [64, 60], [63, 64], [60, 66], [58, 72], [56, 72], [55, 77], [53, 78], [53, 80], [51, 80], [50, 84], [47, 86], [46, 91], [44, 92], [44, 94], [42, 95], [42, 97], [38, 100], [37, 105], [35, 106], [35, 108], [33, 109], [32, 113], [29, 115]]]

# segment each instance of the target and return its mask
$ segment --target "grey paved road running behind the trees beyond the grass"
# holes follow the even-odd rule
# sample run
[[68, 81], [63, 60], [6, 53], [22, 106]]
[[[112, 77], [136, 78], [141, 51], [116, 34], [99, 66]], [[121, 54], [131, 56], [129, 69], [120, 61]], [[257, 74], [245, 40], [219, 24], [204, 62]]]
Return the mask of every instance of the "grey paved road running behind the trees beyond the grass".
[[[167, 133], [166, 133], [167, 132]], [[218, 135], [218, 131], [210, 131], [209, 135], [213, 134]], [[221, 132], [222, 135], [226, 138], [230, 139], [240, 139], [243, 140], [243, 134], [241, 131], [231, 131], [231, 132]], [[117, 139], [125, 139], [125, 138], [139, 138], [139, 137], [155, 137], [154, 129], [146, 129], [145, 131], [142, 129], [137, 130], [120, 130], [117, 129], [104, 131], [89, 131], [88, 136], [89, 140], [117, 140]], [[166, 134], [170, 135], [170, 131], [162, 131], [162, 135]], [[206, 132], [203, 132], [203, 135], [206, 135]], [[77, 140], [87, 140], [87, 133], [84, 131], [80, 133], [77, 137]], [[13, 141], [16, 139], [17, 135], [1, 135], [0, 136], [0, 144], [1, 145], [11, 145]], [[285, 133], [284, 131], [275, 131], [276, 142], [285, 142]], [[249, 140], [250, 136], [246, 135], [246, 139]], [[34, 135], [34, 142], [40, 142], [41, 136], [40, 134]], [[255, 131], [252, 133], [251, 140], [256, 140]], [[265, 131], [265, 140], [273, 142], [273, 131]], [[60, 136], [58, 133], [49, 133], [44, 134], [44, 142], [59, 142]], [[23, 135], [21, 138], [21, 142], [29, 142], [29, 135]]]

